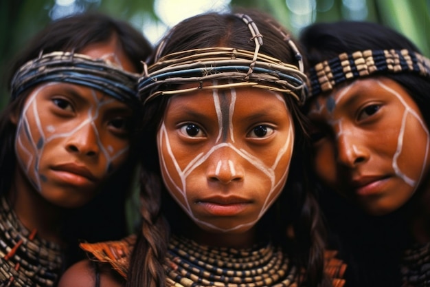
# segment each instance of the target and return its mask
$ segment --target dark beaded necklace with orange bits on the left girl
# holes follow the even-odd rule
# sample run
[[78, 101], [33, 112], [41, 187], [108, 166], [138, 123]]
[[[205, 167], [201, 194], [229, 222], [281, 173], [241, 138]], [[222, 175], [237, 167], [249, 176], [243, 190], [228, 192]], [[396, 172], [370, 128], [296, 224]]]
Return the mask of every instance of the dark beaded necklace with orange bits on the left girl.
[[0, 204], [0, 286], [54, 286], [63, 267], [60, 246], [25, 228], [5, 198]]

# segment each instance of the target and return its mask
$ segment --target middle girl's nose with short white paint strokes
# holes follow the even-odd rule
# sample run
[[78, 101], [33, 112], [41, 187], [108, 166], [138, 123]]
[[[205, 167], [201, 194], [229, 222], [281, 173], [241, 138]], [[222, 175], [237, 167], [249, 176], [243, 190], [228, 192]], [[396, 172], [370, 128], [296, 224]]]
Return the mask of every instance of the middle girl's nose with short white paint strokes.
[[243, 158], [236, 151], [225, 147], [215, 151], [208, 160], [207, 178], [210, 181], [229, 184], [244, 179]]

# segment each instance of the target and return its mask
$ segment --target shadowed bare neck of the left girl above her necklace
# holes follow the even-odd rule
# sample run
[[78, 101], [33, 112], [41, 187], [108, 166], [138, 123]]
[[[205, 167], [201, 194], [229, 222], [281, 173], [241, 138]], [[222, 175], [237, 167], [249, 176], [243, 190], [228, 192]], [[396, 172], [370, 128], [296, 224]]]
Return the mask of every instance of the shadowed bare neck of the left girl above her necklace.
[[61, 243], [59, 228], [63, 210], [45, 200], [19, 167], [16, 167], [8, 199], [25, 228], [36, 229], [38, 236], [45, 240]]

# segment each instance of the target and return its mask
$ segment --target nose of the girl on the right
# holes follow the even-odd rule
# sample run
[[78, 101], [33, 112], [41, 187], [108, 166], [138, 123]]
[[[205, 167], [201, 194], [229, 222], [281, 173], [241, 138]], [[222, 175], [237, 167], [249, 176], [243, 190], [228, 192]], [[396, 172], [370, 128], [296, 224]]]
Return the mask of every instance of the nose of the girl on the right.
[[369, 153], [360, 141], [359, 135], [345, 132], [337, 139], [337, 158], [346, 167], [357, 167], [357, 164], [367, 161]]

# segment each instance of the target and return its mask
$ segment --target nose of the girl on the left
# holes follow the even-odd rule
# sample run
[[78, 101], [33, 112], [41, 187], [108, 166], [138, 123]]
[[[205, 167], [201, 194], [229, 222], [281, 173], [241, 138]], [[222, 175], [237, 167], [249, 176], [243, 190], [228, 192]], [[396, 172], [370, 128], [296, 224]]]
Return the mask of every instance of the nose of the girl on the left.
[[82, 126], [69, 136], [66, 149], [84, 156], [97, 156], [100, 152], [97, 129], [91, 123]]

